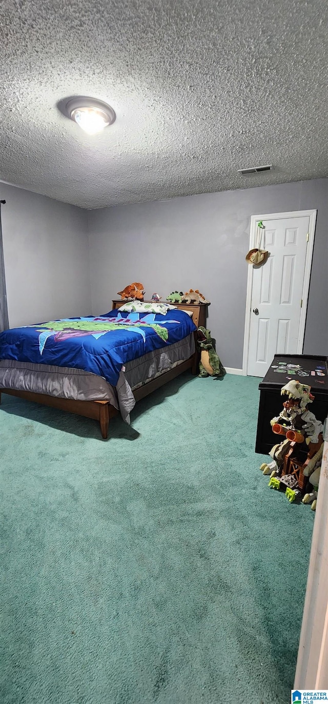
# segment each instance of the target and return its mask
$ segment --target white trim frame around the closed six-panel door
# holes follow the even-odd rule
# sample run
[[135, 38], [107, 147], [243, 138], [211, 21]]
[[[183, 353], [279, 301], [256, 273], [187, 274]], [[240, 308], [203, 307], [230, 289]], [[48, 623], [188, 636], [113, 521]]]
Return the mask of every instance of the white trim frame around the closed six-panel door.
[[[310, 218], [309, 221], [309, 239], [306, 248], [305, 268], [303, 277], [302, 299], [303, 305], [301, 308], [300, 327], [298, 329], [297, 351], [295, 354], [303, 353], [303, 343], [305, 334], [306, 311], [308, 308], [308, 291], [310, 287], [310, 275], [313, 258], [313, 246], [315, 241], [315, 222], [317, 220], [317, 210], [291, 210], [288, 213], [269, 213], [266, 215], [251, 215], [251, 233], [249, 238], [249, 249], [254, 249], [256, 243], [256, 222], [258, 220], [280, 220], [283, 218]], [[247, 376], [248, 367], [248, 352], [249, 352], [249, 337], [251, 328], [251, 300], [253, 288], [253, 266], [248, 264], [247, 291], [246, 291], [246, 314], [245, 314], [245, 330], [244, 330], [244, 353], [243, 353], [243, 377]]]

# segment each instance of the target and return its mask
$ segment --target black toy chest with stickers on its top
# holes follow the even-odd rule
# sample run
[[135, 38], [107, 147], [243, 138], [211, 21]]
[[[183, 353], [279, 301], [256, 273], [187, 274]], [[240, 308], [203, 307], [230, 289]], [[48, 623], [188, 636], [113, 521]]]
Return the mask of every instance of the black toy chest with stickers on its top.
[[282, 386], [291, 379], [311, 386], [315, 400], [308, 408], [318, 420], [324, 422], [328, 415], [328, 358], [303, 354], [275, 355], [263, 382], [258, 386], [260, 405], [255, 451], [262, 455], [267, 455], [277, 443], [277, 435], [272, 432], [270, 420], [282, 410]]

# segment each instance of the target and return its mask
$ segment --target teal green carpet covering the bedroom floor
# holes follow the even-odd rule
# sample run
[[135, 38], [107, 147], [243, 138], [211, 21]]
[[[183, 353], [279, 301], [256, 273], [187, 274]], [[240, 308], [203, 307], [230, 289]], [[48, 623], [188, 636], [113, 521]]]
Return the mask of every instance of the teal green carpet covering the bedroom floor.
[[268, 489], [258, 379], [119, 417], [2, 396], [2, 704], [290, 700], [313, 512]]

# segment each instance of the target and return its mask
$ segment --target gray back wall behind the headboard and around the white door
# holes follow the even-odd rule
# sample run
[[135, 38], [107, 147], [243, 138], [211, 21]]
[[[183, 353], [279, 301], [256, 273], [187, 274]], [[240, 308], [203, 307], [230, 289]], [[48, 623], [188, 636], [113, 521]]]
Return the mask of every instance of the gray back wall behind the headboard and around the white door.
[[89, 210], [94, 314], [132, 281], [165, 297], [198, 288], [227, 367], [241, 368], [251, 215], [317, 208], [304, 353], [328, 354], [328, 179]]

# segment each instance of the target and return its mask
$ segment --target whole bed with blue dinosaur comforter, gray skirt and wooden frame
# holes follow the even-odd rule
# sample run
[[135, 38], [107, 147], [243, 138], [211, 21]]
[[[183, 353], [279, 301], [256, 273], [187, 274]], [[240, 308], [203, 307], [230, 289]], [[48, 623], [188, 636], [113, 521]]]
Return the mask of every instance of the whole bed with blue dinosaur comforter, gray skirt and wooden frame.
[[94, 418], [106, 439], [113, 415], [130, 422], [140, 398], [188, 369], [198, 372], [195, 331], [206, 325], [206, 304], [177, 304], [153, 319], [120, 313], [121, 306], [1, 333], [0, 400], [3, 392]]

